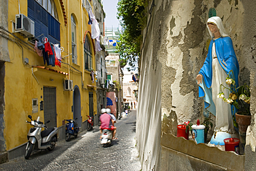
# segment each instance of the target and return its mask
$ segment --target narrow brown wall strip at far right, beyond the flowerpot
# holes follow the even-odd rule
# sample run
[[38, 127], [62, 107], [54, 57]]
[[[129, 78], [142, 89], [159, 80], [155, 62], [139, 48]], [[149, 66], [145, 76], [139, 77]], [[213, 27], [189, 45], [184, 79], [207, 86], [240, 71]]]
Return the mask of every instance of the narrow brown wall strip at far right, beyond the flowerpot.
[[[251, 124], [246, 132], [246, 160], [245, 170], [255, 170], [256, 168], [256, 1], [242, 1], [244, 6], [244, 22], [243, 22], [243, 48], [241, 51], [242, 59], [244, 59], [244, 75], [250, 77], [250, 112], [252, 114]], [[242, 69], [242, 68], [241, 68]], [[241, 75], [240, 75], [241, 79]]]

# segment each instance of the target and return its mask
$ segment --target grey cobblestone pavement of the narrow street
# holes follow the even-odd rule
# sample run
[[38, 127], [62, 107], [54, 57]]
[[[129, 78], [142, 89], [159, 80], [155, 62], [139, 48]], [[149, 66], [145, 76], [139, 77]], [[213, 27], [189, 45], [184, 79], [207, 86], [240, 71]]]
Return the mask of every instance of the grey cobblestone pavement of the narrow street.
[[140, 170], [136, 149], [136, 110], [116, 123], [118, 139], [113, 145], [100, 145], [98, 125], [77, 139], [57, 141], [52, 152], [37, 151], [28, 160], [19, 157], [0, 165], [0, 170]]

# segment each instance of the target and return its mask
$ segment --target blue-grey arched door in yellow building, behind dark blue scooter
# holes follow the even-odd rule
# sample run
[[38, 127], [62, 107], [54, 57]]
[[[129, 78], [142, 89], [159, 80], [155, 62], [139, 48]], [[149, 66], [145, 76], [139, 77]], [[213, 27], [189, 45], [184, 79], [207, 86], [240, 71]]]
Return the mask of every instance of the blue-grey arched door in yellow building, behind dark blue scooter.
[[79, 127], [82, 125], [81, 118], [81, 96], [78, 86], [74, 87], [73, 91], [73, 119], [77, 118], [76, 122]]

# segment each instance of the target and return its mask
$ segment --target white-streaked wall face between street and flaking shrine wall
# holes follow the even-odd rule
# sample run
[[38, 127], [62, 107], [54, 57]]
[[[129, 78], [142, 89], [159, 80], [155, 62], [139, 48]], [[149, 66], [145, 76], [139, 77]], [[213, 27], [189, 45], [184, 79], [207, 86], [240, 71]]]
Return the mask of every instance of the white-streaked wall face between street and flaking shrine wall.
[[[154, 10], [155, 12], [155, 10]], [[152, 18], [143, 48], [143, 57], [140, 66], [140, 84], [138, 92], [138, 109], [136, 123], [136, 140], [139, 150], [140, 162], [143, 170], [159, 170], [160, 163], [160, 140], [161, 140], [161, 68], [158, 60], [160, 44], [154, 37], [156, 30], [153, 21], [157, 21], [155, 14]], [[155, 42], [157, 41], [157, 42]]]

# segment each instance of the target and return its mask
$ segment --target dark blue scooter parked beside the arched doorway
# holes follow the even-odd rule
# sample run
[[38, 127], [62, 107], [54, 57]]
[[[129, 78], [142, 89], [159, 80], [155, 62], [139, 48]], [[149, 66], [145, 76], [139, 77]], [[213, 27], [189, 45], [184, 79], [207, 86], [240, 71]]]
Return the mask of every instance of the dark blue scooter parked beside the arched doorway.
[[[76, 120], [77, 118], [75, 118]], [[75, 139], [77, 138], [77, 134], [79, 132], [78, 124], [73, 119], [64, 119], [64, 121], [68, 121], [66, 123], [66, 141], [70, 141], [71, 136], [74, 136]]]

